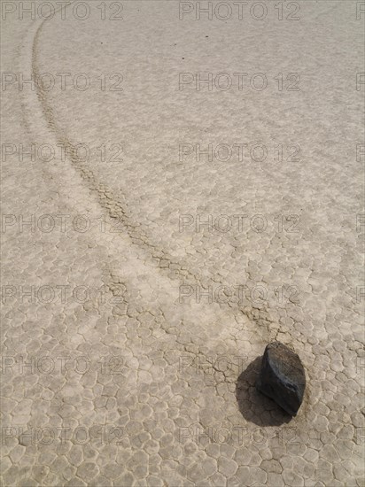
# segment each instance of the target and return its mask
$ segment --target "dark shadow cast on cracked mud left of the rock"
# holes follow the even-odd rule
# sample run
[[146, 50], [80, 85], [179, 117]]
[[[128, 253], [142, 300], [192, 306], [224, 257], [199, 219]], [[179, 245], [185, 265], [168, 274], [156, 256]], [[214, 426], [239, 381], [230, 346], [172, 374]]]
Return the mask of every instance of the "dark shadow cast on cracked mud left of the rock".
[[262, 357], [252, 360], [239, 375], [236, 384], [238, 408], [246, 421], [258, 426], [280, 426], [291, 421], [290, 414], [276, 402], [256, 390], [255, 382], [260, 373]]

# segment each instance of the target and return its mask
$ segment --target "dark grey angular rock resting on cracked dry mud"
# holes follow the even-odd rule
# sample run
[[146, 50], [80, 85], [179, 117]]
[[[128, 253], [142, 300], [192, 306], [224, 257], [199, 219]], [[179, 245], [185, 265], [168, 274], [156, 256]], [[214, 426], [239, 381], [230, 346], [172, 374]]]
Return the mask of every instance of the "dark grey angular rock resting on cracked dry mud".
[[306, 375], [299, 356], [280, 342], [268, 344], [256, 388], [295, 416], [306, 389]]

